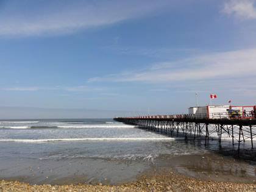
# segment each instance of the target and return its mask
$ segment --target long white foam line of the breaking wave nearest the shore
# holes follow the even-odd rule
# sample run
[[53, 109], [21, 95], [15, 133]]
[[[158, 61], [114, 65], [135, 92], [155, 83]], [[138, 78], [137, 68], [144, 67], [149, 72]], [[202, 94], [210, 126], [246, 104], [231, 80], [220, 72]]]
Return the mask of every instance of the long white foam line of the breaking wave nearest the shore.
[[171, 137], [163, 138], [54, 138], [54, 139], [0, 139], [0, 142], [23, 142], [23, 143], [37, 143], [37, 142], [51, 142], [51, 141], [165, 141], [175, 140]]

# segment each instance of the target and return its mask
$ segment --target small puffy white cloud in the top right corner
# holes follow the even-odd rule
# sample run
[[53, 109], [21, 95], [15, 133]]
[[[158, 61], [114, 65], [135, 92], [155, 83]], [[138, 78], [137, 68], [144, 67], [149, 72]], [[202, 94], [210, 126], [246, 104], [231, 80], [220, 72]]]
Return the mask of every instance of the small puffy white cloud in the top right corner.
[[255, 0], [230, 0], [224, 4], [223, 12], [241, 19], [256, 19]]

